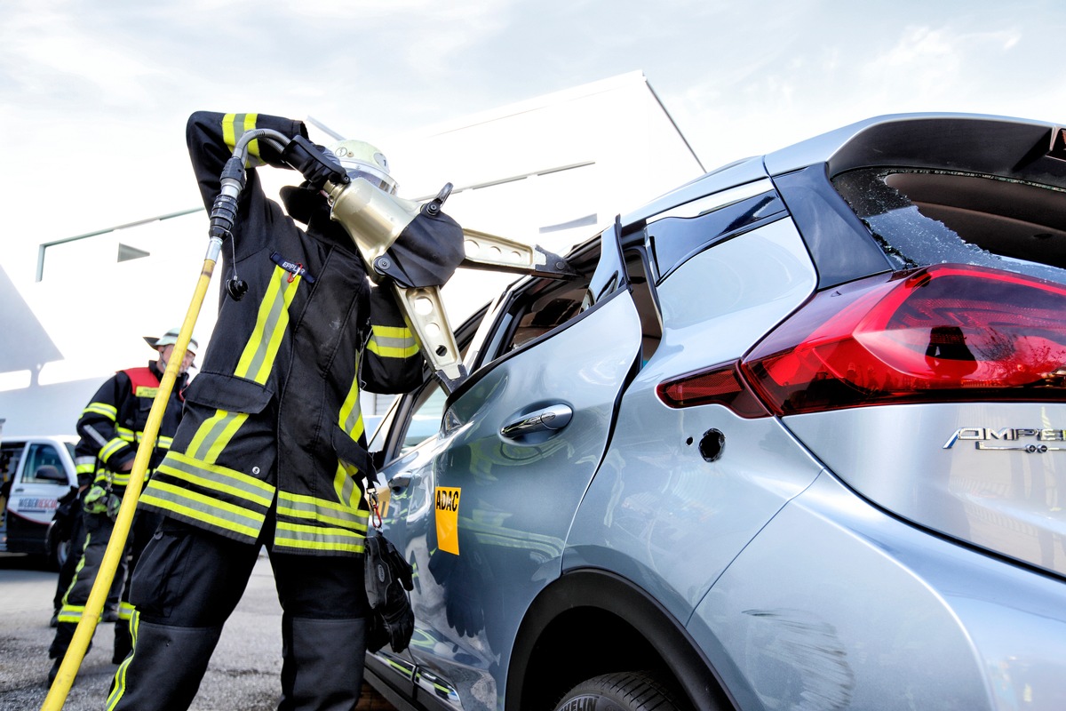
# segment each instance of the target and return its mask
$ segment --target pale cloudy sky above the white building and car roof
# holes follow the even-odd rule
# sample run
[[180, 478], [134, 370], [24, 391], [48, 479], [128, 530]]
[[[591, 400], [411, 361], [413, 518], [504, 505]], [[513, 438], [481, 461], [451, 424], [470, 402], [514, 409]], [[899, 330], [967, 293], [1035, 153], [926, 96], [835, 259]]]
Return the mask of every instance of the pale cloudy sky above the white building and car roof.
[[373, 141], [643, 70], [710, 168], [883, 113], [1066, 123], [1064, 39], [1061, 0], [3, 0], [0, 264], [197, 206], [198, 109]]

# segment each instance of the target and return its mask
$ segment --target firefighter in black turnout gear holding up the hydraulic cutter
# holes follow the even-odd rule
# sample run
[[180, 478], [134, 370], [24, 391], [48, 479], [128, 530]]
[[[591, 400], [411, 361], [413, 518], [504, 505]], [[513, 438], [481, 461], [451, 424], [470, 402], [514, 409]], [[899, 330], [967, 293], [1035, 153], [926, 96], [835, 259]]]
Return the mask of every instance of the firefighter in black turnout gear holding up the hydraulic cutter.
[[[190, 117], [209, 209], [233, 146], [257, 128], [307, 138], [302, 122], [276, 116]], [[387, 178], [377, 163], [366, 175]], [[372, 475], [359, 392], [414, 387], [422, 357], [319, 188], [282, 189], [286, 212], [254, 169], [288, 167], [278, 151], [256, 140], [246, 164], [211, 343], [139, 504], [165, 518], [134, 576], [134, 648], [108, 709], [189, 708], [261, 546], [284, 611], [278, 709], [348, 711], [358, 700], [369, 612], [364, 478]], [[449, 275], [462, 260], [455, 227]]]

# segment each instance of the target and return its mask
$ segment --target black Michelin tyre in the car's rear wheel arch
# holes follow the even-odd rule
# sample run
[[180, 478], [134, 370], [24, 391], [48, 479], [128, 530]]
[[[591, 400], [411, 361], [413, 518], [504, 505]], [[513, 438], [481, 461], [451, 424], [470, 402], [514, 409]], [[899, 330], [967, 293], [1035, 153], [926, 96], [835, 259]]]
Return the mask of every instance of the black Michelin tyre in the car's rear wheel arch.
[[688, 706], [651, 672], [618, 672], [582, 681], [555, 705], [555, 711], [681, 711]]

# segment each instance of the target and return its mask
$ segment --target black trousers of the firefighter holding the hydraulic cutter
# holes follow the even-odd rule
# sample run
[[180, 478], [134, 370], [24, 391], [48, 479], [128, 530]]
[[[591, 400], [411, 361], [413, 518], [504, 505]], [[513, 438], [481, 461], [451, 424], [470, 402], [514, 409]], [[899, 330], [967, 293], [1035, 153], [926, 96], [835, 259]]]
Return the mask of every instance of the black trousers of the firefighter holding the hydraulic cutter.
[[[189, 708], [259, 549], [164, 519], [133, 575], [133, 653], [115, 673], [109, 711]], [[282, 609], [278, 711], [351, 711], [366, 651], [362, 560], [271, 551], [271, 565]]]

